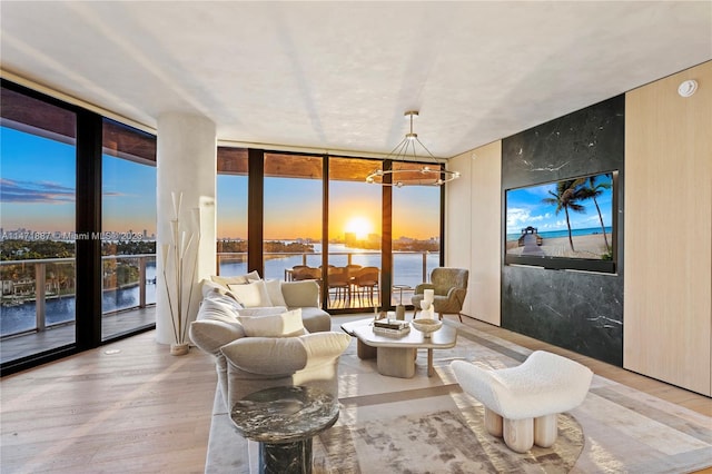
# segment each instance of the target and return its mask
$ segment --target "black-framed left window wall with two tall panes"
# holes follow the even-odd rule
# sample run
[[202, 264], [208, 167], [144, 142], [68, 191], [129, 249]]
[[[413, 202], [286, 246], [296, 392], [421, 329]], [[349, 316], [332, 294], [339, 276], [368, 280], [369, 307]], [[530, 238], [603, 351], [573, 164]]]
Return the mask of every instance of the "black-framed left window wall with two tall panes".
[[0, 90], [6, 375], [155, 326], [156, 138], [4, 79]]

